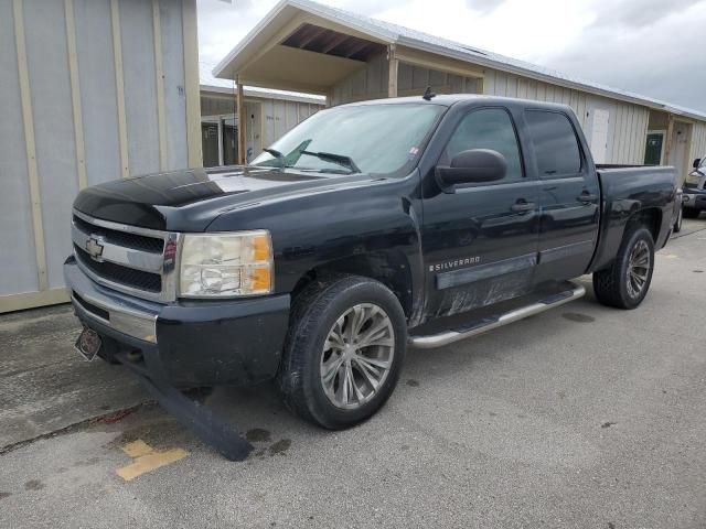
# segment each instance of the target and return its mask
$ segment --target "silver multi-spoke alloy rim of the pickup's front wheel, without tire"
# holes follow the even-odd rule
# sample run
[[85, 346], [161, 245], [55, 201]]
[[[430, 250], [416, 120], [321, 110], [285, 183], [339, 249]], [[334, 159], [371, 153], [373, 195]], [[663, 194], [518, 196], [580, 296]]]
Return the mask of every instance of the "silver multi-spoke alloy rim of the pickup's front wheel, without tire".
[[351, 410], [368, 402], [383, 387], [394, 356], [395, 332], [383, 309], [361, 303], [344, 312], [321, 355], [321, 385], [331, 403]]

